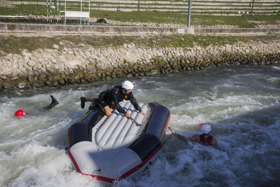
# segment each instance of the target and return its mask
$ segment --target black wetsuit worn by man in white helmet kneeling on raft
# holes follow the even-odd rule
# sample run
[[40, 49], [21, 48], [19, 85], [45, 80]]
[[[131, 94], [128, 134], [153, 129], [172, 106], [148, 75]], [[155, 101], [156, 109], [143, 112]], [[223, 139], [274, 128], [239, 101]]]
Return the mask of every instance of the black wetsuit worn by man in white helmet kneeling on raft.
[[99, 101], [101, 100], [100, 102], [103, 107], [107, 106], [109, 103], [114, 102], [117, 111], [122, 114], [126, 114], [126, 110], [124, 110], [120, 106], [120, 102], [123, 100], [130, 101], [130, 103], [134, 106], [136, 110], [138, 110], [139, 112], [142, 111], [132, 92], [130, 92], [129, 94], [122, 93], [122, 85], [114, 86], [113, 88], [107, 91], [101, 92], [98, 99]]

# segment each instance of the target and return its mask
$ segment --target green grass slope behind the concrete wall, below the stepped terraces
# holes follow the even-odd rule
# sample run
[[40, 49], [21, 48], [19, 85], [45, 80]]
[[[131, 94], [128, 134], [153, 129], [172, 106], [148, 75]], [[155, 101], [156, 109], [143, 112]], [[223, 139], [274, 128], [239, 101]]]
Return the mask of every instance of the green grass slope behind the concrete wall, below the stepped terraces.
[[[79, 11], [78, 8], [69, 8], [72, 11]], [[47, 15], [46, 5], [16, 5], [16, 7], [1, 7], [0, 15]], [[85, 10], [86, 11], [86, 10]], [[53, 9], [53, 14], [56, 11]], [[50, 15], [50, 12], [49, 12]], [[114, 21], [122, 22], [142, 22], [142, 23], [174, 23], [187, 24], [188, 14], [185, 12], [159, 12], [159, 11], [106, 11], [91, 10], [90, 17], [106, 18]], [[254, 15], [244, 16], [211, 16], [211, 15], [192, 15], [191, 25], [234, 25], [239, 28], [254, 28], [254, 24], [250, 21], [262, 22], [264, 25], [275, 25], [280, 23], [280, 16], [277, 15]]]

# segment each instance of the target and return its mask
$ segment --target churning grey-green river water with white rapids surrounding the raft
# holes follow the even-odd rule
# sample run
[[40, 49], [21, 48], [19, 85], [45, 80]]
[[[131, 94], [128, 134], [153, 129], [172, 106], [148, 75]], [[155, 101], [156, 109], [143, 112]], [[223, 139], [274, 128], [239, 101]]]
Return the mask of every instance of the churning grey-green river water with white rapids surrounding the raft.
[[[1, 92], [0, 186], [104, 186], [74, 171], [64, 151], [66, 132], [87, 112], [90, 103], [81, 109], [81, 96], [96, 97], [124, 80]], [[171, 136], [147, 172], [114, 186], [279, 186], [280, 64], [129, 80], [138, 102], [169, 108], [169, 127], [179, 134], [201, 134], [199, 123], [210, 123], [222, 150]], [[50, 95], [59, 105], [39, 112]], [[15, 118], [18, 109], [36, 116]]]

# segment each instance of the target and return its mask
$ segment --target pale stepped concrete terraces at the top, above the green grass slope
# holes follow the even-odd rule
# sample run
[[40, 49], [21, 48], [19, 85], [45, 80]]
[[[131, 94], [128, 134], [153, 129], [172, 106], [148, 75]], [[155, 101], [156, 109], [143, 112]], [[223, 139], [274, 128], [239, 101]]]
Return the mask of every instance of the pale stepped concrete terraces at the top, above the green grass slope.
[[[1, 0], [2, 1], [2, 0]], [[4, 1], [4, 0], [3, 0]], [[5, 0], [7, 1], [7, 0]], [[8, 1], [13, 4], [21, 4], [21, 1]], [[107, 11], [137, 11], [138, 0], [90, 0], [91, 9], [107, 10]], [[206, 14], [207, 12], [248, 12], [250, 11], [250, 0], [215, 0], [208, 1], [192, 1], [192, 12], [195, 14]], [[37, 1], [23, 1], [23, 4], [37, 4]], [[38, 4], [46, 5], [46, 1], [40, 1]], [[78, 3], [66, 3], [68, 6], [78, 6]], [[1, 5], [0, 5], [1, 6]], [[64, 6], [63, 1], [60, 1], [60, 6]], [[254, 2], [254, 14], [271, 13], [278, 15], [280, 4], [276, 0], [262, 0], [262, 2]], [[140, 11], [173, 11], [182, 12], [188, 10], [188, 0], [182, 1], [140, 1]], [[222, 13], [223, 14], [223, 13]], [[211, 14], [213, 15], [213, 14]], [[221, 15], [221, 14], [220, 14]], [[235, 14], [234, 14], [235, 15]], [[269, 14], [266, 14], [269, 15]]]

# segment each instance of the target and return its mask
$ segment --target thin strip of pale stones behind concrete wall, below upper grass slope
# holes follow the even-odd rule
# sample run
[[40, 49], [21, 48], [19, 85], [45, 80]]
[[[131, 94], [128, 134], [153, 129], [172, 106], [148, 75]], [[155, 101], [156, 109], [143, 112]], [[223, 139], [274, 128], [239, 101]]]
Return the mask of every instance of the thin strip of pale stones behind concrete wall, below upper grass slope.
[[[99, 18], [90, 18], [89, 21], [92, 23], [95, 23]], [[104, 18], [101, 18], [103, 20], [106, 20], [107, 24], [109, 25], [123, 25], [123, 26], [141, 26], [141, 27], [181, 27], [186, 28], [187, 25], [185, 24], [174, 24], [174, 23], [142, 23], [142, 22], [122, 22], [122, 21], [113, 21], [113, 20], [107, 20]], [[0, 17], [0, 22], [7, 22], [7, 21], [51, 21], [50, 16], [47, 18], [47, 16], [44, 15], [31, 15], [25, 16], [25, 18], [7, 18], [7, 17]], [[57, 15], [52, 16], [52, 22], [57, 22]], [[61, 23], [61, 17], [58, 18], [58, 22]], [[256, 28], [280, 28], [280, 24], [277, 25], [265, 25], [261, 22], [252, 22]], [[190, 25], [190, 27], [193, 28], [238, 28], [236, 25]]]

